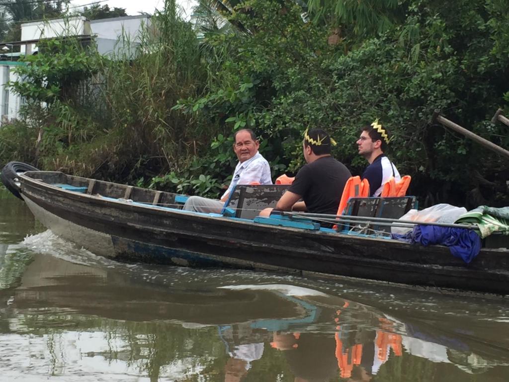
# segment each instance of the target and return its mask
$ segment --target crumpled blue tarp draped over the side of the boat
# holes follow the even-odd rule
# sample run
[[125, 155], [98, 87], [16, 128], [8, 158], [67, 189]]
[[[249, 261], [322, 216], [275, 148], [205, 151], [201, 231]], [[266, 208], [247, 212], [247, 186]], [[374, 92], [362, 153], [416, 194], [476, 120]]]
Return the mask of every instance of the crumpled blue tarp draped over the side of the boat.
[[407, 234], [393, 234], [393, 238], [428, 245], [440, 244], [449, 247], [450, 253], [469, 263], [480, 251], [480, 237], [468, 228], [449, 228], [417, 225]]

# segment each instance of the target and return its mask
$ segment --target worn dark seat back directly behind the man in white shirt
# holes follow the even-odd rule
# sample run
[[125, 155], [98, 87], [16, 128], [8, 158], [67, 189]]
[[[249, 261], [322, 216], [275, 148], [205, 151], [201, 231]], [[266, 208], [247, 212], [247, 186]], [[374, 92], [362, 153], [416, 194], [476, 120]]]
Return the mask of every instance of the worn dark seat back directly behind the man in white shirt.
[[253, 220], [264, 208], [274, 208], [288, 187], [290, 185], [287, 184], [237, 184], [230, 198], [224, 203], [221, 214]]

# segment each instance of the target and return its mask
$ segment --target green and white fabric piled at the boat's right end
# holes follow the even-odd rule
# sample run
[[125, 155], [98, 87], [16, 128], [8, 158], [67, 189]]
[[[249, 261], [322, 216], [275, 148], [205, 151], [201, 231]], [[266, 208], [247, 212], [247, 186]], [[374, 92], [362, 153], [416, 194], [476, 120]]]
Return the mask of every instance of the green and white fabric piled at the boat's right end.
[[479, 206], [461, 215], [455, 223], [477, 225], [480, 237], [483, 239], [493, 232], [509, 235], [509, 207]]

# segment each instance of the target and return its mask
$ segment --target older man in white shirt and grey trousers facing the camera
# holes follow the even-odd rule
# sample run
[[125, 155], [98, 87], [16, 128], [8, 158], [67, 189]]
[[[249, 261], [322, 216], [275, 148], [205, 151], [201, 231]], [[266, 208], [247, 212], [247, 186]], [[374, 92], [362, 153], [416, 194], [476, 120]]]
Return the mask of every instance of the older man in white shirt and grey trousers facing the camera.
[[237, 184], [272, 184], [269, 162], [258, 152], [260, 142], [250, 129], [242, 129], [233, 137], [235, 143], [233, 150], [237, 154], [239, 162], [235, 167], [232, 182], [221, 196], [220, 200], [207, 199], [199, 196], [191, 196], [187, 199], [183, 209], [185, 211], [220, 213], [224, 202], [228, 200], [230, 193]]

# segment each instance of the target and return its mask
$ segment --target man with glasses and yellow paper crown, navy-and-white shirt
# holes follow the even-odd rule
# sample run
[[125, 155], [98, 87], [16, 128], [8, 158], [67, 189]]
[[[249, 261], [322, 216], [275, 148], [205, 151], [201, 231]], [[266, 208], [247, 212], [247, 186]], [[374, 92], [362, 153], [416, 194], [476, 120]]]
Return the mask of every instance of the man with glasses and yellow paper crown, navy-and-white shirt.
[[389, 142], [389, 132], [378, 122], [378, 119], [361, 129], [360, 138], [357, 140], [359, 154], [370, 163], [361, 178], [370, 182], [370, 196], [379, 197], [383, 185], [391, 176], [396, 182], [401, 180], [398, 169], [384, 154]]

